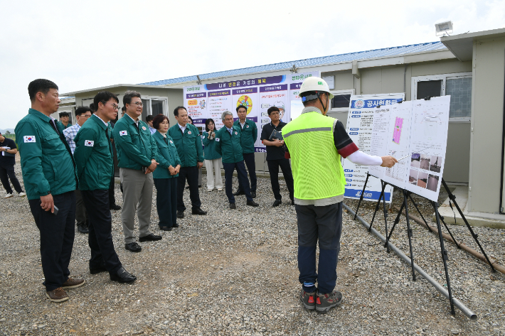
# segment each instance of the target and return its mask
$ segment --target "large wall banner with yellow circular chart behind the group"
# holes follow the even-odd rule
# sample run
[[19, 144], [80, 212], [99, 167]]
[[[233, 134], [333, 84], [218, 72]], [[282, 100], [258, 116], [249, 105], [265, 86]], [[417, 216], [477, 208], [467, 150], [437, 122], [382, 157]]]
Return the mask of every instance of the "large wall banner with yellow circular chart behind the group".
[[297, 107], [295, 116], [298, 116], [298, 107], [302, 103], [299, 88], [305, 78], [312, 76], [319, 77], [319, 71], [192, 85], [184, 87], [184, 107], [193, 118], [193, 124], [205, 130], [208, 118], [214, 120], [216, 129], [223, 127], [221, 114], [225, 111], [233, 112], [233, 118], [238, 119], [235, 109], [244, 105], [248, 108], [247, 118], [257, 125], [255, 151], [266, 152], [260, 135], [262, 127], [270, 123], [267, 110], [277, 107], [281, 121], [289, 122], [294, 106]]

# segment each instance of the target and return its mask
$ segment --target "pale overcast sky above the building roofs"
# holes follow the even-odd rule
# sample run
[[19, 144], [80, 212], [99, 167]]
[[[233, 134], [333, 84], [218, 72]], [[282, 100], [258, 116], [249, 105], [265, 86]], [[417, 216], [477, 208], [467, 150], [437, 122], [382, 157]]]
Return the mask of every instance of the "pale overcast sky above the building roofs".
[[60, 93], [440, 40], [505, 27], [505, 0], [0, 0], [0, 129], [28, 112], [28, 83]]

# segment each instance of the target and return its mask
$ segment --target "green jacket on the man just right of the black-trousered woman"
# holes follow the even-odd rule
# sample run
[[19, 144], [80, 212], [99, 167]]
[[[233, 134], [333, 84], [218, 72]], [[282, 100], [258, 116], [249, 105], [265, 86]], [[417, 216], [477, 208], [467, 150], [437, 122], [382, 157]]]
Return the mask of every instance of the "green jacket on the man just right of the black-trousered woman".
[[200, 132], [191, 124], [186, 124], [184, 135], [179, 124], [171, 126], [168, 134], [176, 144], [177, 153], [181, 159], [181, 167], [195, 167], [203, 162], [203, 149]]

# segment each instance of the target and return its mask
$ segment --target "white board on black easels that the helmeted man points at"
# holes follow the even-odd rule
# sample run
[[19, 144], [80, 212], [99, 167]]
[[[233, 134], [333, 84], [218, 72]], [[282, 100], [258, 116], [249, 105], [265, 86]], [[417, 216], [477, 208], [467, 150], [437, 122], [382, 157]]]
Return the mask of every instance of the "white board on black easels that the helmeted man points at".
[[445, 165], [449, 107], [450, 96], [443, 96], [377, 108], [371, 155], [390, 155], [398, 163], [393, 168], [373, 166], [368, 172], [436, 202]]

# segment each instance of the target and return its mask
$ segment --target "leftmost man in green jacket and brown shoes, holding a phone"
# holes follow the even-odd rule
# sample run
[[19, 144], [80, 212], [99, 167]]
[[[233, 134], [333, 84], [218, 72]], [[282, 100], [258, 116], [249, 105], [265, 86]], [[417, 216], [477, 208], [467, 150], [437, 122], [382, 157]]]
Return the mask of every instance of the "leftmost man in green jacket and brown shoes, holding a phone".
[[33, 80], [28, 94], [31, 109], [16, 125], [16, 143], [28, 203], [41, 233], [46, 297], [62, 302], [68, 300], [65, 288], [85, 283], [69, 278], [68, 270], [75, 234], [75, 162], [63, 129], [50, 116], [61, 102], [58, 85], [50, 80]]

